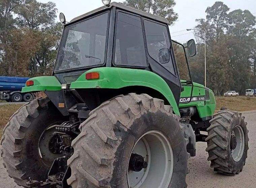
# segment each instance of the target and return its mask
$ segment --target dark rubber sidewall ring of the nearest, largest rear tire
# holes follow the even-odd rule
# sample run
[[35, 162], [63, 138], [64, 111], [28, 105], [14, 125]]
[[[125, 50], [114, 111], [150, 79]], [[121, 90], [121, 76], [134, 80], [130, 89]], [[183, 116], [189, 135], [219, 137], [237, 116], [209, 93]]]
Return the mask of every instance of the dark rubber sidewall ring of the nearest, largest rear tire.
[[[122, 137], [122, 142], [117, 148], [114, 162], [114, 174], [111, 187], [129, 188], [127, 181], [127, 167], [130, 154], [138, 139], [149, 131], [157, 130], [164, 134], [171, 144], [174, 168], [169, 188], [186, 187], [187, 175], [187, 150], [184, 136], [179, 126], [179, 121], [173, 115], [164, 112], [147, 112], [136, 119], [130, 130], [125, 131], [121, 127], [115, 131], [117, 137]], [[126, 148], [126, 149], [124, 149]], [[123, 172], [123, 173], [118, 173]]]

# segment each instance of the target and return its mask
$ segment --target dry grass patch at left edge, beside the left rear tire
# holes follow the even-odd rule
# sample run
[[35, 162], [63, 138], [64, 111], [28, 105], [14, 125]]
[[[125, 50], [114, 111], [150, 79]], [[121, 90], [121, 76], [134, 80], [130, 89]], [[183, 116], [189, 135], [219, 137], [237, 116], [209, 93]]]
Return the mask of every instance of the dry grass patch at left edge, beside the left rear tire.
[[0, 105], [0, 138], [3, 135], [3, 129], [9, 121], [12, 114], [17, 111], [23, 104], [5, 104]]

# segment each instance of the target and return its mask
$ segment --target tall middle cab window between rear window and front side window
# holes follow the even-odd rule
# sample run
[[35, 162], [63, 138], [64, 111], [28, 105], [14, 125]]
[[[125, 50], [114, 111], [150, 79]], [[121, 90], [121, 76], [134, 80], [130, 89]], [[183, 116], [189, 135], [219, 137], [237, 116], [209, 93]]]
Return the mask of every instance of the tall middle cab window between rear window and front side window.
[[147, 66], [141, 17], [119, 11], [115, 45], [116, 65]]

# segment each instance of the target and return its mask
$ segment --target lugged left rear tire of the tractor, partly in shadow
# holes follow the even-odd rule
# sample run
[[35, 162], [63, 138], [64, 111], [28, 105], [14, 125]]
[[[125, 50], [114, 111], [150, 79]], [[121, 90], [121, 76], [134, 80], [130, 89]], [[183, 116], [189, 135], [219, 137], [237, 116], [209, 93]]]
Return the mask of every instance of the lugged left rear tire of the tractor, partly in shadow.
[[39, 98], [25, 104], [4, 128], [1, 139], [3, 166], [18, 185], [26, 186], [29, 177], [38, 181], [47, 179], [51, 166], [39, 154], [39, 138], [50, 125], [63, 121], [63, 116], [49, 101]]

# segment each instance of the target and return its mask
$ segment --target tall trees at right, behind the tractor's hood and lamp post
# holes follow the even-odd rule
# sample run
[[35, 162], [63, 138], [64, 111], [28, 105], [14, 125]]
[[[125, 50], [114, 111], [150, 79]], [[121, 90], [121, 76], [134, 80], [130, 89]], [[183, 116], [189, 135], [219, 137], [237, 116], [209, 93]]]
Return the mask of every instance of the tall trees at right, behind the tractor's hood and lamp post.
[[245, 94], [246, 89], [256, 88], [255, 16], [249, 10], [231, 11], [221, 1], [207, 7], [205, 12], [206, 19], [196, 20], [198, 54], [190, 58], [193, 81], [204, 84], [205, 40], [208, 88], [216, 95], [227, 90]]

